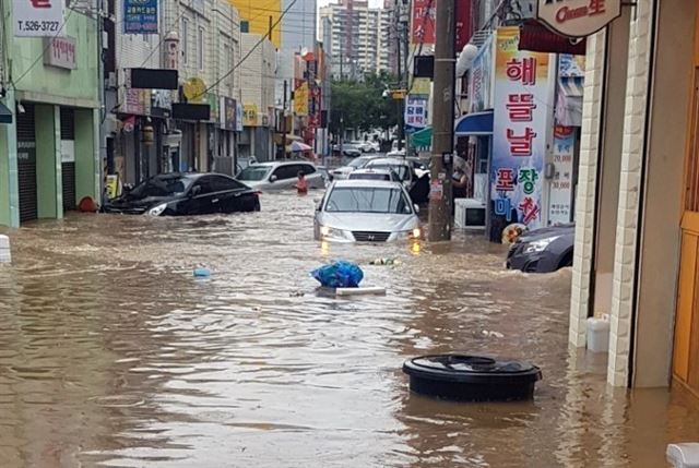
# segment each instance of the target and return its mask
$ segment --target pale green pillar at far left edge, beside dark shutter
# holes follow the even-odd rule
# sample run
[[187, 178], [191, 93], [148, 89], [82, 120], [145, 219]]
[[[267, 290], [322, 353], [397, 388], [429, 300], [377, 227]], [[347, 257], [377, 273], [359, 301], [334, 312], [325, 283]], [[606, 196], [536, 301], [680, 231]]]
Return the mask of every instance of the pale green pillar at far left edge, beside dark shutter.
[[12, 123], [0, 124], [0, 225], [20, 226], [17, 185], [17, 121], [14, 89], [9, 86], [3, 104], [14, 113]]

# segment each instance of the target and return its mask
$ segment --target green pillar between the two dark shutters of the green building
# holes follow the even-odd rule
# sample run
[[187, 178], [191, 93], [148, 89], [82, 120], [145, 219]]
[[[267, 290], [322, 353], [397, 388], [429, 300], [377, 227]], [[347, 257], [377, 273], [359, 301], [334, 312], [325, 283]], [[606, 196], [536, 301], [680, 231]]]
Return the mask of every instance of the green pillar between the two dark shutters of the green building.
[[38, 217], [62, 218], [60, 108], [49, 104], [37, 104], [35, 112]]

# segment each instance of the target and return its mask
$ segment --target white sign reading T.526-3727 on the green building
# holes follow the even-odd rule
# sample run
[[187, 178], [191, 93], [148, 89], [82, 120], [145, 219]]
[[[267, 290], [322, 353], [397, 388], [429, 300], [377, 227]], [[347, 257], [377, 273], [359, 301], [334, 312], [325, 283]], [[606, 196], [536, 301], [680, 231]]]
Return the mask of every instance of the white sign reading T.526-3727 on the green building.
[[57, 36], [63, 27], [63, 0], [13, 0], [14, 35]]

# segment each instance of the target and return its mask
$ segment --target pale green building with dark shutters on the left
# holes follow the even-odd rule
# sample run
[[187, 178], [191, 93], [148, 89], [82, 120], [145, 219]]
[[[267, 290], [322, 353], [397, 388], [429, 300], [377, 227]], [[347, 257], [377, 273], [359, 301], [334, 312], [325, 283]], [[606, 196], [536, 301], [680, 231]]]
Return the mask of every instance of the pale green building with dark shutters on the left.
[[[99, 200], [97, 50], [94, 12], [63, 12], [63, 34], [16, 35], [12, 2], [2, 2], [3, 89], [0, 123], [0, 225], [61, 218], [84, 196]], [[9, 122], [8, 122], [9, 121]]]

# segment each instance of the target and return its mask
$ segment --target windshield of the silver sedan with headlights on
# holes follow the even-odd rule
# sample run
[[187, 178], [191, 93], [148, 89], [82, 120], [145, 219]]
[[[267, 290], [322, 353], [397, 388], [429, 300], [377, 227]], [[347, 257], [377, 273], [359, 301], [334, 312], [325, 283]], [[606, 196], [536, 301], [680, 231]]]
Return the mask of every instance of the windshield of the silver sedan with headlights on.
[[389, 213], [410, 215], [411, 205], [401, 189], [335, 188], [328, 197], [330, 213]]

